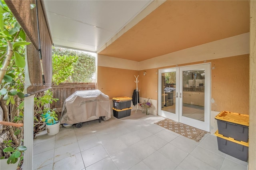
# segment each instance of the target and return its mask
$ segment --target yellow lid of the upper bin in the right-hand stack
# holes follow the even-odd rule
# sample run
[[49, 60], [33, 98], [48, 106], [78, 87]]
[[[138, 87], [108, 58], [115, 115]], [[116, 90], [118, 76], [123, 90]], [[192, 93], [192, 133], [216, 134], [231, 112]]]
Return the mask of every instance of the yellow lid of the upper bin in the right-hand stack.
[[239, 125], [249, 126], [249, 115], [243, 115], [240, 113], [222, 111], [215, 117], [215, 119], [236, 123]]

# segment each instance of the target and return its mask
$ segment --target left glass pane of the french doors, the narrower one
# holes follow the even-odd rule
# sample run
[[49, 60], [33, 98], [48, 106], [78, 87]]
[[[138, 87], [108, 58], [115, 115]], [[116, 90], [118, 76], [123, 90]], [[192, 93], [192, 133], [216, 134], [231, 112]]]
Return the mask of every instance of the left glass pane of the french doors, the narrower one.
[[162, 110], [176, 114], [176, 71], [162, 73]]

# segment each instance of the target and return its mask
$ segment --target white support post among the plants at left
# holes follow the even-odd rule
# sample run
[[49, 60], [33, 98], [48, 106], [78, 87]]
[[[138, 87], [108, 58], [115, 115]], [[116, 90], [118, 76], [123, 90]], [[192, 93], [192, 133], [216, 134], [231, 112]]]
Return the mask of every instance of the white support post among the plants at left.
[[24, 98], [24, 170], [33, 170], [34, 96]]

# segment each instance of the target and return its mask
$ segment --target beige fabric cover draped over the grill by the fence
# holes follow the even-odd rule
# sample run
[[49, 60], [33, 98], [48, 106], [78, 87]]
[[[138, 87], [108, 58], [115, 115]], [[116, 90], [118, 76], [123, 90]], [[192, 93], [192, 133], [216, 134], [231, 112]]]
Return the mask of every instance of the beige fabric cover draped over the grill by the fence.
[[99, 90], [76, 91], [64, 101], [60, 123], [86, 122], [93, 116], [111, 118], [109, 97]]

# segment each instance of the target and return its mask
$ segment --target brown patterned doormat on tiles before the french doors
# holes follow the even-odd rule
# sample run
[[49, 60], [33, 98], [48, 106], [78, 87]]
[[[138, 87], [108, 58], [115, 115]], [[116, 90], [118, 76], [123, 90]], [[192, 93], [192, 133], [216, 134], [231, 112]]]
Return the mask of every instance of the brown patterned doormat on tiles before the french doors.
[[190, 127], [188, 125], [184, 125], [182, 123], [178, 123], [170, 119], [164, 119], [155, 124], [164, 127], [168, 130], [171, 130], [173, 132], [176, 132], [178, 134], [181, 134], [182, 136], [195, 140], [196, 142], [199, 142], [202, 139], [202, 137], [207, 133], [204, 130]]

